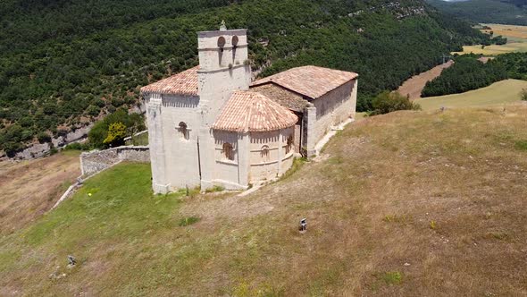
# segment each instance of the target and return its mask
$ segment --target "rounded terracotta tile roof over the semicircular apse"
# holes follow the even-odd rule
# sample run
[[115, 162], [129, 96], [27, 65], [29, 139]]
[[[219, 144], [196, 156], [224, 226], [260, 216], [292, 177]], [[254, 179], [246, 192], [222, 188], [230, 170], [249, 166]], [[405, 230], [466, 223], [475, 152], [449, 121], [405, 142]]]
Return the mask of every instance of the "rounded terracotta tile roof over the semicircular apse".
[[286, 107], [260, 93], [236, 91], [223, 106], [213, 129], [230, 132], [269, 132], [297, 123]]

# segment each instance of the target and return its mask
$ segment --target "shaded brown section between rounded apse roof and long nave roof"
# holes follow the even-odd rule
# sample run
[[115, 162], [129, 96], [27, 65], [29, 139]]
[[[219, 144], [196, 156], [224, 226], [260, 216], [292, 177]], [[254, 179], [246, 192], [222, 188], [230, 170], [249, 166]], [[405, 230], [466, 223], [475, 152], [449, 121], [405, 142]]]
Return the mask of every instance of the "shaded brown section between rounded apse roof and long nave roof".
[[296, 112], [304, 112], [305, 106], [308, 102], [302, 95], [299, 95], [289, 89], [282, 88], [273, 83], [264, 84], [261, 86], [255, 86], [251, 88], [251, 91], [263, 94], [265, 97], [272, 99], [272, 101], [289, 108]]

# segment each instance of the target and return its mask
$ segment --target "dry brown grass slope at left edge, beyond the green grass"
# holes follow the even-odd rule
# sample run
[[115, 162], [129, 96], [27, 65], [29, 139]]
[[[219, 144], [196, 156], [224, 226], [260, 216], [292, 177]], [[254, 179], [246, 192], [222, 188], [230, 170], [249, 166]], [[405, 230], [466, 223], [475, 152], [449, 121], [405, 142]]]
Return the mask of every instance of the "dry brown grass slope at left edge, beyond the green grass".
[[73, 152], [0, 162], [0, 235], [42, 216], [79, 174], [79, 155]]

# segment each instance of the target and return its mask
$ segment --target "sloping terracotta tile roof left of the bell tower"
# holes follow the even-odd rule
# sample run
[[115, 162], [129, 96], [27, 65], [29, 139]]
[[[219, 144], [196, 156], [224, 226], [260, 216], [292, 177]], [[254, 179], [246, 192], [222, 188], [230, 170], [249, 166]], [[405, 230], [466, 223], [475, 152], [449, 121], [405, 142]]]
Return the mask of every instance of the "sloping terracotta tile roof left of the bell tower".
[[197, 70], [199, 66], [174, 74], [141, 88], [141, 93], [197, 96]]

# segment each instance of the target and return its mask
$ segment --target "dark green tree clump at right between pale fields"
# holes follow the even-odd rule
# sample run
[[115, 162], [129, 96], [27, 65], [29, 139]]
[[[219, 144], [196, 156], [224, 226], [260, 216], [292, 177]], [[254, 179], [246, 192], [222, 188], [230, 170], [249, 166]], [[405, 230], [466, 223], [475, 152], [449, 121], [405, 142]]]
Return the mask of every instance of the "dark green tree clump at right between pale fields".
[[426, 83], [422, 97], [463, 93], [487, 87], [507, 78], [527, 80], [527, 53], [498, 55], [486, 64], [479, 55], [460, 55], [455, 64], [441, 72], [438, 78]]

